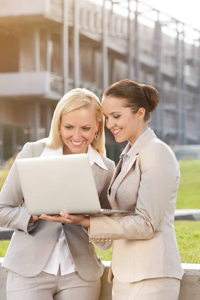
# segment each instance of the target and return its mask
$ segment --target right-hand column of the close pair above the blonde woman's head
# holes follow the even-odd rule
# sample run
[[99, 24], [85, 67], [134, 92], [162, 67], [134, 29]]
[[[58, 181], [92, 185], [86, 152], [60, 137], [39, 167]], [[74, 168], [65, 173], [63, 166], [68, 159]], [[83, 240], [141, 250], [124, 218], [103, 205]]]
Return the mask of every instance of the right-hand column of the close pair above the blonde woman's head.
[[79, 56], [79, 0], [73, 0], [73, 66], [74, 88], [79, 87], [80, 56]]

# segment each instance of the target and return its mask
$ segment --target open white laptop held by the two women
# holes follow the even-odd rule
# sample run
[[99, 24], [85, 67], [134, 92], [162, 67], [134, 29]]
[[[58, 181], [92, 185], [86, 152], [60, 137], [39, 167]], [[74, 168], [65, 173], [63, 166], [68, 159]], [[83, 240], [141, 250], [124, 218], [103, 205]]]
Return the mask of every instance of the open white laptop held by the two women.
[[87, 154], [16, 159], [16, 168], [30, 215], [68, 213], [110, 214], [101, 209]]

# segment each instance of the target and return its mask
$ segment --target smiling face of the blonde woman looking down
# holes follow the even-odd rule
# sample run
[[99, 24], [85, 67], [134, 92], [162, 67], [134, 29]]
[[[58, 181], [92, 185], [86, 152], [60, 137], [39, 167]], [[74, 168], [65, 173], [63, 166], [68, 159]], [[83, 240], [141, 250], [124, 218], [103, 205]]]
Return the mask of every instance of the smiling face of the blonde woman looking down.
[[98, 127], [92, 109], [78, 108], [64, 114], [60, 121], [60, 135], [67, 146], [65, 154], [86, 153]]

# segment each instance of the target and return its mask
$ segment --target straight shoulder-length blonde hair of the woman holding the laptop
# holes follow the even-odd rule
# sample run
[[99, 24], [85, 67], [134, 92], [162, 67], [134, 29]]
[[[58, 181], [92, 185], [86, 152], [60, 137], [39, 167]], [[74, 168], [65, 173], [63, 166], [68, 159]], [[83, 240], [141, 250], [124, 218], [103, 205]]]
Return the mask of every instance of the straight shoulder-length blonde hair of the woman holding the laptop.
[[91, 108], [96, 116], [96, 121], [99, 123], [97, 131], [98, 138], [93, 138], [91, 145], [98, 153], [105, 155], [105, 136], [104, 136], [104, 116], [101, 110], [99, 98], [86, 88], [74, 88], [63, 95], [61, 100], [55, 107], [50, 132], [48, 136], [47, 146], [52, 149], [58, 149], [64, 144], [61, 135], [59, 135], [61, 117], [79, 108]]

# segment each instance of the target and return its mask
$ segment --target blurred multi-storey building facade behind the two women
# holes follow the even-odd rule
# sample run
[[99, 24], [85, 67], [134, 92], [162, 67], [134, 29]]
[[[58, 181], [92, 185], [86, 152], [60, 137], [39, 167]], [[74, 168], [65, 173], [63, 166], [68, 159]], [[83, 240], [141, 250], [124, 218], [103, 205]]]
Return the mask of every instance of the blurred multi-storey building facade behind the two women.
[[[130, 78], [156, 86], [150, 127], [168, 144], [200, 142], [200, 32], [137, 0], [0, 0], [0, 161], [48, 135], [74, 87], [101, 97]], [[106, 130], [107, 154], [118, 159]]]

